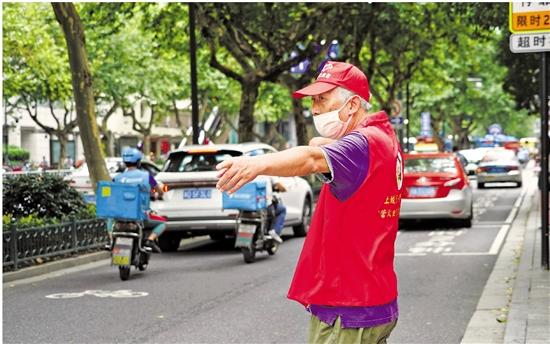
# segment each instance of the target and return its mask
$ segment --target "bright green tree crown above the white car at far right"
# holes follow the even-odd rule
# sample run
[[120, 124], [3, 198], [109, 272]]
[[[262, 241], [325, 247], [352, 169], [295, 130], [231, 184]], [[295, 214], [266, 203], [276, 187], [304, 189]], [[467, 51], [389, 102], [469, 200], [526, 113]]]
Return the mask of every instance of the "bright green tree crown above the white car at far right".
[[469, 136], [484, 135], [492, 123], [500, 123], [509, 134], [527, 130], [527, 111], [516, 110], [513, 96], [504, 89], [506, 68], [494, 63], [499, 35], [494, 31], [480, 41], [463, 30], [454, 44], [439, 42], [438, 53], [425, 62], [412, 84], [416, 94], [412, 112], [431, 113], [440, 149], [444, 134], [453, 135], [460, 148], [468, 147]]

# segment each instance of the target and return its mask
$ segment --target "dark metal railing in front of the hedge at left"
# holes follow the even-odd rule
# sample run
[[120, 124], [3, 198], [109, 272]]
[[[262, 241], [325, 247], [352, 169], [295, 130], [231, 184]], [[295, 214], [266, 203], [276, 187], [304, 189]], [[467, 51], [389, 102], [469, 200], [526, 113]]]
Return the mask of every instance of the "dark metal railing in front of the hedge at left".
[[109, 240], [102, 219], [3, 232], [3, 267], [17, 270], [37, 258], [77, 253], [103, 247]]

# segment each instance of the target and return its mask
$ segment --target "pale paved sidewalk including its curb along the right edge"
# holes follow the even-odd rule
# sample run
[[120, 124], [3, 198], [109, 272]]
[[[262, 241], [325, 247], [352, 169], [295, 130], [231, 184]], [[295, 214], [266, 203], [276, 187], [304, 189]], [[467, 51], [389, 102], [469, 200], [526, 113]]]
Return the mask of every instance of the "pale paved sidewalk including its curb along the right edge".
[[540, 193], [532, 171], [462, 343], [549, 343], [550, 271], [541, 268]]

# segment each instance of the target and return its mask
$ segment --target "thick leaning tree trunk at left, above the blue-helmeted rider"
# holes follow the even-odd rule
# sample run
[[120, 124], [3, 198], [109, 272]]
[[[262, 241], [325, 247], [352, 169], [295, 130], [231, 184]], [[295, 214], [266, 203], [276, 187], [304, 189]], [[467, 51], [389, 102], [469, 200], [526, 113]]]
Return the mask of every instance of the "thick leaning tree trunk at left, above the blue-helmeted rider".
[[52, 3], [52, 7], [67, 42], [78, 128], [95, 191], [98, 181], [110, 180], [110, 177], [105, 166], [95, 119], [92, 75], [88, 65], [84, 27], [72, 3]]

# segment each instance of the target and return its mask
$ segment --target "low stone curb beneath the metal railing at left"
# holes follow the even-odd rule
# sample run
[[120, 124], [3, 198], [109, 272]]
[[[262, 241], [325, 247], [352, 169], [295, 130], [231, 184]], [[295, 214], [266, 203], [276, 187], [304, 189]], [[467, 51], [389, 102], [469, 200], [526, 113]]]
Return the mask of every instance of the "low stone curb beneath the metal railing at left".
[[50, 272], [72, 268], [78, 265], [88, 264], [110, 257], [110, 252], [94, 252], [74, 258], [61, 259], [55, 262], [49, 262], [43, 265], [31, 266], [18, 271], [5, 272], [2, 274], [2, 282], [13, 282], [20, 279], [36, 277]]

